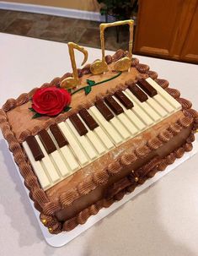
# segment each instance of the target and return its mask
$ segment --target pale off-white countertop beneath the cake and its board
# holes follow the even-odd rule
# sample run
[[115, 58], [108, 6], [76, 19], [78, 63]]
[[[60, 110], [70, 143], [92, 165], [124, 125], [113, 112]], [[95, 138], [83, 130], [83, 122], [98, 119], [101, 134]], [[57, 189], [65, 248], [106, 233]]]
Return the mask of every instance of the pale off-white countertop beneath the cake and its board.
[[[88, 62], [101, 57], [88, 48]], [[106, 51], [107, 53], [111, 53]], [[0, 105], [71, 70], [67, 45], [0, 33]], [[198, 109], [198, 66], [138, 57]], [[83, 59], [77, 52], [77, 63]], [[41, 235], [0, 134], [0, 255], [198, 255], [198, 158], [195, 155], [63, 248]]]

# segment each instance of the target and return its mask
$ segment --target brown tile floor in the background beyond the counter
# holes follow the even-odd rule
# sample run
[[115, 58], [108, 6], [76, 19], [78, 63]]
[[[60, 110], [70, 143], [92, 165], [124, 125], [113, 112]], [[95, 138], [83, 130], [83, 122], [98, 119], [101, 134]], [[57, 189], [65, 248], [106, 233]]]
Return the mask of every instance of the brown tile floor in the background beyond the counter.
[[[50, 41], [74, 41], [82, 46], [100, 48], [99, 22], [70, 19], [45, 14], [32, 14], [0, 9], [0, 32], [24, 35]], [[122, 27], [116, 41], [115, 28], [105, 30], [105, 48], [127, 49], [129, 33]]]

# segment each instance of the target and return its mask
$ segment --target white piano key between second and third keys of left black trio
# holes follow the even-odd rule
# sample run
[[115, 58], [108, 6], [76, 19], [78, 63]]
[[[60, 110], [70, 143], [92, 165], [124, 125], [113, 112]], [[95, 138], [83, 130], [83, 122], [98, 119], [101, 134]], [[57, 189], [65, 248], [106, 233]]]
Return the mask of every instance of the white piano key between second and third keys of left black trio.
[[62, 151], [60, 150], [60, 148], [56, 142], [56, 139], [54, 138], [53, 134], [51, 133], [51, 130], [48, 129], [47, 133], [51, 136], [51, 139], [53, 140], [54, 144], [56, 145], [56, 149], [57, 149], [56, 151], [51, 153], [51, 156], [53, 157], [53, 160], [55, 161], [56, 166], [59, 169], [59, 172], [61, 172], [62, 177], [65, 177], [69, 174], [70, 169], [62, 155]]

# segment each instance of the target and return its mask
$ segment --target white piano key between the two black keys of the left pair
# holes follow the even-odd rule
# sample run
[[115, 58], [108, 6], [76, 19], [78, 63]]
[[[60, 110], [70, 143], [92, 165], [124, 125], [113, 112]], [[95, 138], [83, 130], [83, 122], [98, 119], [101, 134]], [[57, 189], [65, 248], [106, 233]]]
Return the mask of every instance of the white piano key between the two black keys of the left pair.
[[104, 154], [106, 151], [104, 144], [102, 141], [99, 139], [97, 134], [94, 133], [94, 130], [90, 130], [87, 126], [87, 124], [83, 121], [83, 118], [80, 117], [79, 114], [77, 114], [81, 122], [84, 124], [84, 126], [87, 128], [88, 133], [85, 134], [85, 137], [88, 137], [89, 141], [94, 145], [95, 150], [99, 153], [99, 155]]

